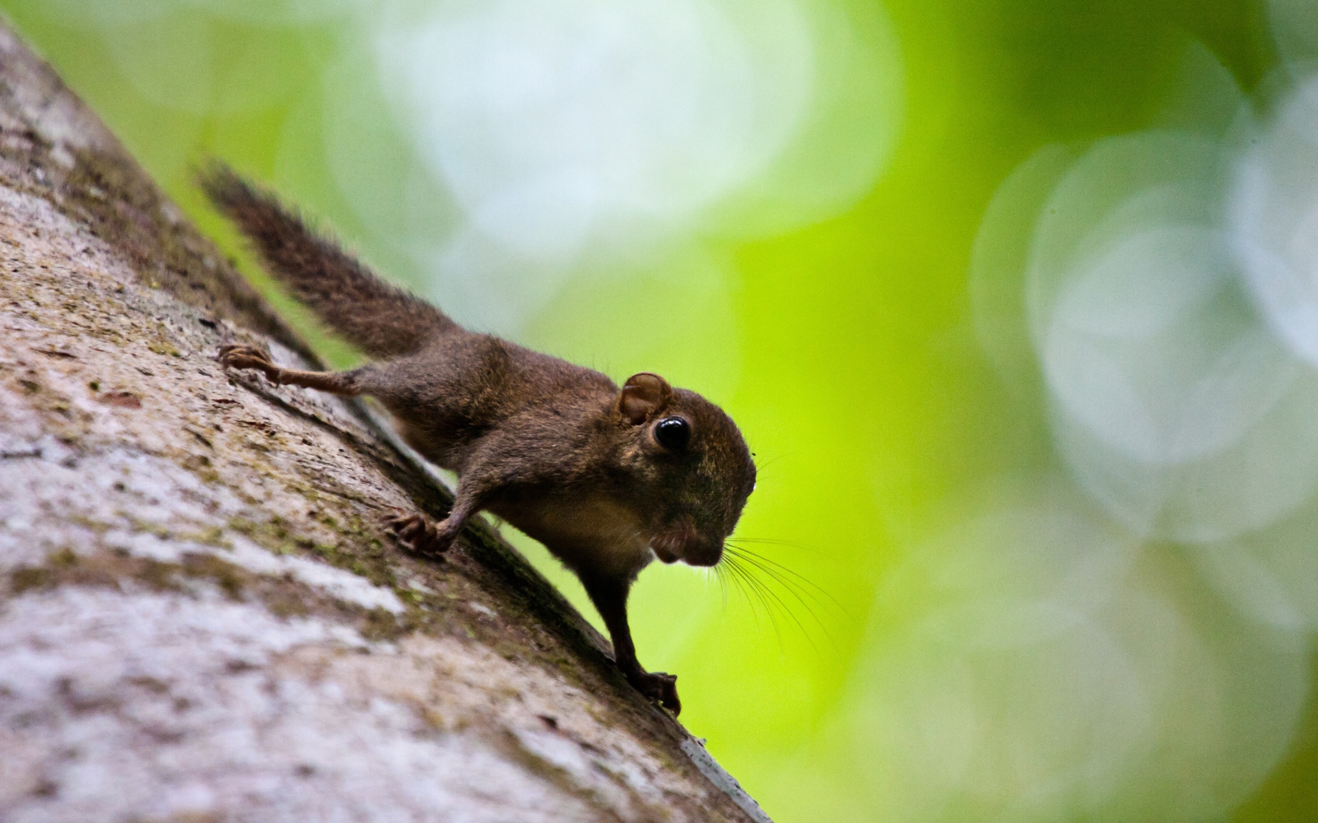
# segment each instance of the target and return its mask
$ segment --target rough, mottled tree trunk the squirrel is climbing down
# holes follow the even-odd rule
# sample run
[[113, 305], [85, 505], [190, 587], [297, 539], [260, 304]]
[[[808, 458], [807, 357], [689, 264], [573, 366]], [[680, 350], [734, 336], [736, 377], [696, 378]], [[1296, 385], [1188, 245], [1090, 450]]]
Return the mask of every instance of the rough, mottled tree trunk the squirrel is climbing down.
[[3, 28], [0, 266], [0, 819], [766, 819]]

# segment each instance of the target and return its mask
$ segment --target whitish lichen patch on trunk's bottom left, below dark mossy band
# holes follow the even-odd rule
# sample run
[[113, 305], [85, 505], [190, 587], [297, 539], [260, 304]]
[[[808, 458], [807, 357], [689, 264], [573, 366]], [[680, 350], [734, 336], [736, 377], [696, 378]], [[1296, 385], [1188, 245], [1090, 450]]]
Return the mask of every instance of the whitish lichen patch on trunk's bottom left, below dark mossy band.
[[[601, 820], [420, 701], [335, 677], [355, 632], [223, 597], [58, 589], [0, 614], [7, 820]], [[511, 815], [511, 816], [510, 816]], [[616, 819], [616, 818], [613, 818]]]

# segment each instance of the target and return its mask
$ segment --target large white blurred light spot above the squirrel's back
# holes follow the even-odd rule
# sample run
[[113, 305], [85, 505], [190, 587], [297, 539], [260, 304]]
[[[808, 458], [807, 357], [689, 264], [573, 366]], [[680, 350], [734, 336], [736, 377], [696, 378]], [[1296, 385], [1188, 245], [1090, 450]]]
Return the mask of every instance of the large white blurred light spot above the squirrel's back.
[[687, 221], [782, 150], [812, 43], [784, 0], [747, 28], [705, 0], [445, 4], [384, 26], [378, 54], [472, 229], [552, 259]]

